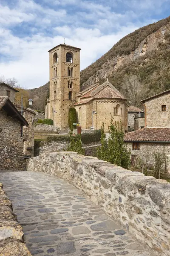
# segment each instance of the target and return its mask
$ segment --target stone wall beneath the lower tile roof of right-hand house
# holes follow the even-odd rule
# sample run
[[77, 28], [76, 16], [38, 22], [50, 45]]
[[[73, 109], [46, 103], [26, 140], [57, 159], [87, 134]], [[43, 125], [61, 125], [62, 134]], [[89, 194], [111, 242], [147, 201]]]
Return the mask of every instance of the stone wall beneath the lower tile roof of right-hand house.
[[139, 150], [133, 150], [133, 142], [126, 143], [127, 149], [130, 149], [131, 155], [139, 155], [142, 159], [147, 159], [150, 163], [153, 163], [153, 153], [160, 152], [165, 153], [167, 157], [167, 173], [166, 176], [170, 177], [170, 143], [139, 143]]

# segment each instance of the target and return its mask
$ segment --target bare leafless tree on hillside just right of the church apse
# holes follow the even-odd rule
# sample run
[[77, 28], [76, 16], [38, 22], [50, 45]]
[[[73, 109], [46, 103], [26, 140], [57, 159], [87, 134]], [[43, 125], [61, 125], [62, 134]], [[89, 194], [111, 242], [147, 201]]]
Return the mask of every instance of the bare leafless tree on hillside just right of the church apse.
[[140, 106], [139, 102], [145, 93], [144, 83], [141, 81], [140, 76], [125, 75], [122, 90], [124, 95], [131, 102], [131, 105]]

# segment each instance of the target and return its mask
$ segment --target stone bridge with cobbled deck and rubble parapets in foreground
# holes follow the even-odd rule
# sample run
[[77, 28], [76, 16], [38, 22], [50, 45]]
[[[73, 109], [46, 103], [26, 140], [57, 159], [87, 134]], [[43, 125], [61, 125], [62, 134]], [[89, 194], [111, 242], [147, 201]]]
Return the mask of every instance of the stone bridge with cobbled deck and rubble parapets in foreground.
[[[32, 255], [170, 256], [167, 182], [73, 152], [41, 154], [27, 170], [0, 181]], [[0, 256], [30, 256], [16, 221], [1, 218]]]

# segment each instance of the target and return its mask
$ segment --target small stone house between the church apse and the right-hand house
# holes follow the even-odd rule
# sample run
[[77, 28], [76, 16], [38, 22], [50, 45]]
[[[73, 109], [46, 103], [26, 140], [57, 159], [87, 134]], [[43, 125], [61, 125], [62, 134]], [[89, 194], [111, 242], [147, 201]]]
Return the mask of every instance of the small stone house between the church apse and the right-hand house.
[[136, 131], [144, 128], [144, 111], [135, 106], [129, 106], [128, 109], [128, 131]]

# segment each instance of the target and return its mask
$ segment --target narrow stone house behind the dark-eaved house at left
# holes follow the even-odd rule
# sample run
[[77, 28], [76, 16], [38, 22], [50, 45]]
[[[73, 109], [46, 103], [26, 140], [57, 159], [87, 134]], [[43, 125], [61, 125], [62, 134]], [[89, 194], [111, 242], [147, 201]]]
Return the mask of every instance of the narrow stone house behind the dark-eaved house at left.
[[[15, 108], [21, 113], [21, 106], [14, 103]], [[28, 126], [23, 126], [23, 152], [28, 157], [34, 156], [34, 120], [36, 112], [30, 108], [23, 107], [23, 117], [27, 120]]]

